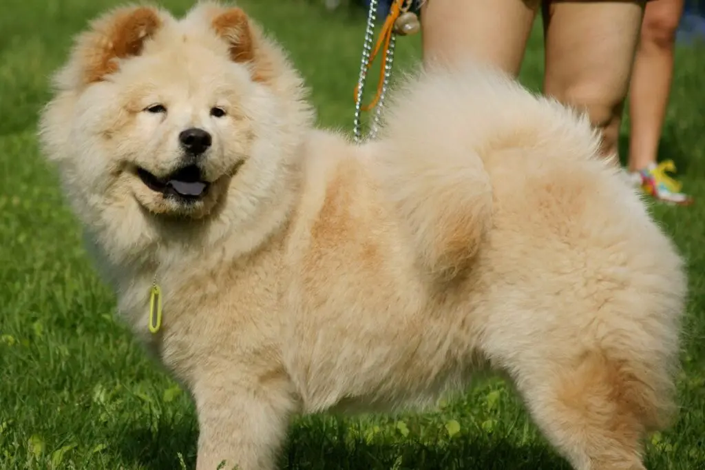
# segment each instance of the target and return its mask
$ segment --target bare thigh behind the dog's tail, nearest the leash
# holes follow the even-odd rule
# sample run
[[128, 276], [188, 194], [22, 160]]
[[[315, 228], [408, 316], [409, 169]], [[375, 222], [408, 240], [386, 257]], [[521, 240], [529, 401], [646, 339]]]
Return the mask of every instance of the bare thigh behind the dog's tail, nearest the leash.
[[538, 0], [426, 0], [424, 64], [471, 57], [517, 76]]

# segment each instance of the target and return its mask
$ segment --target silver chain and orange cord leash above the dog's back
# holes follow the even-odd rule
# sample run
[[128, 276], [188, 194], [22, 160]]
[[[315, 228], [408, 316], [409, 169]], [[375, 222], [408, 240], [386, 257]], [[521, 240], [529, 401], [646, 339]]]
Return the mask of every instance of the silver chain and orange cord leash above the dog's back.
[[[364, 43], [362, 44], [362, 60], [360, 61], [360, 76], [355, 86], [355, 120], [353, 121], [353, 134], [355, 143], [361, 143], [362, 135], [362, 112], [374, 109], [372, 124], [367, 133], [367, 138], [374, 138], [379, 129], [381, 121], [382, 107], [384, 107], [384, 97], [391, 78], [392, 65], [394, 62], [394, 49], [396, 47], [397, 35], [413, 35], [421, 29], [419, 18], [410, 11], [413, 0], [394, 0], [387, 15], [386, 20], [380, 30], [377, 43], [372, 49], [374, 39], [374, 25], [377, 20], [377, 4], [379, 0], [369, 1], [369, 12], [367, 13], [367, 28], [364, 32]], [[382, 52], [382, 64], [379, 71], [379, 81], [374, 99], [369, 104], [362, 104], [362, 94], [367, 81], [367, 72], [374, 62], [374, 59]]]

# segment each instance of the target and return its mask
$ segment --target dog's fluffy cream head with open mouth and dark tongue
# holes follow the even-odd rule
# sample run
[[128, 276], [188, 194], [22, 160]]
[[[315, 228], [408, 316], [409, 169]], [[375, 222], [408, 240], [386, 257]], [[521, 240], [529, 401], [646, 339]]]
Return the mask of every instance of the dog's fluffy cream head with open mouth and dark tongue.
[[133, 226], [226, 209], [252, 222], [312, 118], [281, 49], [242, 10], [214, 3], [181, 20], [149, 6], [107, 13], [78, 36], [54, 88], [42, 146], [92, 225], [106, 211]]

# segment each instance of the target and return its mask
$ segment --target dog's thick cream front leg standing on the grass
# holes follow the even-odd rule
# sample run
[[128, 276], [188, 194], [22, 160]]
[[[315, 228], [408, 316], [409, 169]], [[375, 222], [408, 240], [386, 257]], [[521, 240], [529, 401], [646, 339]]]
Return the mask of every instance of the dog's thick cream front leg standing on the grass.
[[194, 389], [197, 470], [273, 470], [295, 407], [289, 390], [281, 376], [208, 374]]

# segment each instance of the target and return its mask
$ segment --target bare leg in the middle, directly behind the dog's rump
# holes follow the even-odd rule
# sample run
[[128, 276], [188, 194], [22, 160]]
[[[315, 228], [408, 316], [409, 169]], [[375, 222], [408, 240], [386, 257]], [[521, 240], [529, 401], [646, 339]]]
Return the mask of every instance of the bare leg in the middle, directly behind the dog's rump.
[[644, 1], [551, 1], [543, 9], [544, 93], [587, 110], [603, 155], [616, 158]]

